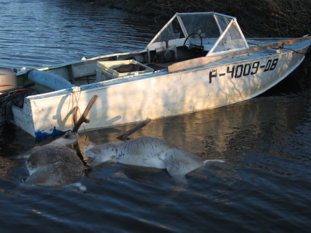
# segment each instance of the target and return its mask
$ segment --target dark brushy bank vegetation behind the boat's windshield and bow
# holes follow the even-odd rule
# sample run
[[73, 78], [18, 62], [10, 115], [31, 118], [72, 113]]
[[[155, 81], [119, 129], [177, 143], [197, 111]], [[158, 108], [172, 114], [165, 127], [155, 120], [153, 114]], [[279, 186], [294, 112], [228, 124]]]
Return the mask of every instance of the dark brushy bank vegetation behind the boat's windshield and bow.
[[310, 34], [310, 0], [93, 0], [146, 14], [157, 21], [176, 12], [219, 12], [238, 19], [245, 37], [301, 37]]

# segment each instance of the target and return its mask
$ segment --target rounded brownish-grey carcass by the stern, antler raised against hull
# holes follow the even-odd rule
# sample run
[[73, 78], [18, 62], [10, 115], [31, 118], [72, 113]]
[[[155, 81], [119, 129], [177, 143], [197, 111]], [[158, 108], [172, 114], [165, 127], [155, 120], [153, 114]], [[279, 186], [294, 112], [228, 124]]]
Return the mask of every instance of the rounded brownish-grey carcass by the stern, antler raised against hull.
[[24, 181], [25, 183], [57, 188], [74, 183], [82, 176], [84, 163], [77, 156], [77, 151], [69, 146], [77, 143], [79, 139], [77, 130], [82, 123], [89, 122], [86, 116], [96, 99], [97, 95], [88, 103], [79, 121], [76, 120], [77, 108], [73, 110], [75, 117], [72, 132], [66, 133], [62, 138], [47, 145], [32, 148], [24, 154], [24, 156], [29, 156], [26, 160], [29, 176]]

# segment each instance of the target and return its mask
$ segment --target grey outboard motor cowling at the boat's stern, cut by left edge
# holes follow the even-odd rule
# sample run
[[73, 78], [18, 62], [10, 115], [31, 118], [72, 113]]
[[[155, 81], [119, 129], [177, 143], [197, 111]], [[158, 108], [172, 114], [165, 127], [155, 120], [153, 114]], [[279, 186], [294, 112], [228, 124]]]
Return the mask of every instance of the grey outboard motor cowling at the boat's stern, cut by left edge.
[[0, 93], [17, 88], [16, 73], [10, 68], [0, 68]]

